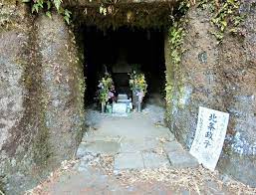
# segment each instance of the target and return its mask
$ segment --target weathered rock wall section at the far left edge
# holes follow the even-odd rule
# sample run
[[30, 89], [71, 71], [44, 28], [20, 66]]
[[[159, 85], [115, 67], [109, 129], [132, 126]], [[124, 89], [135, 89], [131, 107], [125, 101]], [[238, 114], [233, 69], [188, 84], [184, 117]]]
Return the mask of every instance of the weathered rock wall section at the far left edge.
[[[26, 146], [30, 144], [29, 133], [23, 130], [26, 114], [27, 89], [23, 83], [28, 64], [30, 20], [26, 8], [16, 6], [16, 1], [0, 5], [0, 190], [11, 185], [26, 184]], [[24, 168], [23, 168], [24, 167]], [[2, 186], [3, 185], [3, 186]]]

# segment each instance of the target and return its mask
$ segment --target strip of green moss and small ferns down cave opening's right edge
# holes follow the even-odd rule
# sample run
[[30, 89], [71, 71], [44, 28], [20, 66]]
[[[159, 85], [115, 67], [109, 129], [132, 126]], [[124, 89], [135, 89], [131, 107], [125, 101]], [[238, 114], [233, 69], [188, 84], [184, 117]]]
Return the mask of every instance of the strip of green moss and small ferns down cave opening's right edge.
[[174, 14], [175, 21], [169, 28], [167, 35], [167, 54], [166, 61], [166, 112], [165, 121], [172, 130], [175, 110], [183, 108], [182, 99], [184, 96], [183, 75], [180, 69], [182, 58], [183, 39], [185, 36], [186, 19], [185, 14], [190, 7], [189, 1], [181, 1], [178, 12]]

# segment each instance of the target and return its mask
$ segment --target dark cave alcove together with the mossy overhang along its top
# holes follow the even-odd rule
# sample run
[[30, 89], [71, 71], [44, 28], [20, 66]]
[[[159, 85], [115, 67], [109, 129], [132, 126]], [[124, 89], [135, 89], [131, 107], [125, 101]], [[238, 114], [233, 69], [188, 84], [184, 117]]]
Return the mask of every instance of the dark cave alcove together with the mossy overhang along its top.
[[163, 105], [164, 39], [173, 22], [172, 3], [87, 4], [74, 10], [76, 37], [84, 56], [86, 105], [94, 102], [105, 73], [112, 75], [118, 94], [131, 98], [128, 74], [134, 69], [145, 76], [143, 102]]

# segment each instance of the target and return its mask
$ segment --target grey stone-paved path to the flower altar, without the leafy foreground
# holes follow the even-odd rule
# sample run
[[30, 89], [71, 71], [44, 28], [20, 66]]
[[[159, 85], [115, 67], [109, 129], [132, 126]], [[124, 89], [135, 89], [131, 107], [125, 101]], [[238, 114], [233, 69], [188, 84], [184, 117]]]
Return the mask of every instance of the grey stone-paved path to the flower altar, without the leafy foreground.
[[[154, 107], [155, 108], [155, 107]], [[162, 110], [153, 114], [163, 115]], [[94, 112], [94, 110], [91, 110]], [[90, 113], [89, 113], [90, 114]], [[80, 144], [77, 156], [110, 154], [114, 156], [114, 172], [126, 169], [197, 167], [198, 163], [175, 140], [163, 125], [163, 118], [152, 119], [152, 113], [130, 113], [128, 116], [101, 114], [92, 122]]]

